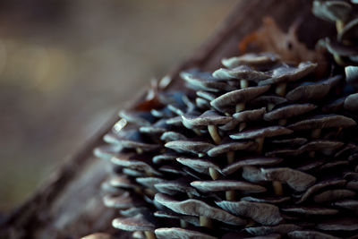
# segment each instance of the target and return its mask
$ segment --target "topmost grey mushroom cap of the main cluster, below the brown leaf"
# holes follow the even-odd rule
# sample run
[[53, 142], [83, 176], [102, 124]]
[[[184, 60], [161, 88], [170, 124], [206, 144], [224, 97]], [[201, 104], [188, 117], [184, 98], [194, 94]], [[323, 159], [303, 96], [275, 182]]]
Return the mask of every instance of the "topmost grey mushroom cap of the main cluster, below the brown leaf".
[[278, 55], [273, 54], [271, 52], [264, 52], [259, 54], [248, 53], [231, 58], [224, 58], [221, 60], [221, 63], [224, 64], [227, 68], [234, 68], [242, 64], [250, 66], [275, 64], [278, 60]]

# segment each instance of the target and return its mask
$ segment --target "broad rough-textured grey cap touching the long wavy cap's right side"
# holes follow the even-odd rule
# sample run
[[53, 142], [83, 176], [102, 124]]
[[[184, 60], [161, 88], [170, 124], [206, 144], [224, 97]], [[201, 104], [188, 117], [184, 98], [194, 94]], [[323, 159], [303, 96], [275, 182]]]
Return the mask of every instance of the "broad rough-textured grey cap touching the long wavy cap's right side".
[[251, 218], [261, 225], [273, 226], [283, 220], [277, 206], [268, 203], [251, 201], [216, 201], [215, 203], [234, 215]]

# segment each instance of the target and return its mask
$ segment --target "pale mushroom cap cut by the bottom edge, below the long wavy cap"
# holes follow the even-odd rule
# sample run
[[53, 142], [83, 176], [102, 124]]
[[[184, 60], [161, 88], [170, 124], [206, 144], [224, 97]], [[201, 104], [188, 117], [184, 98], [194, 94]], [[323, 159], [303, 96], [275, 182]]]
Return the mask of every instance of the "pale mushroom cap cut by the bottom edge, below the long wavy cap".
[[158, 239], [217, 239], [217, 237], [181, 227], [163, 227], [154, 231]]

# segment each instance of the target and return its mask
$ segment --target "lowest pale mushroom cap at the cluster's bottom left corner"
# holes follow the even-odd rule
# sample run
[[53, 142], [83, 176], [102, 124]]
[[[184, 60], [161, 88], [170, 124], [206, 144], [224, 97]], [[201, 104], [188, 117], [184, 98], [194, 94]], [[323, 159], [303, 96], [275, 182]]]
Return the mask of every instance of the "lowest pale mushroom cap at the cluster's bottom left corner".
[[124, 231], [153, 231], [156, 228], [141, 214], [132, 218], [115, 218], [112, 221], [112, 226]]

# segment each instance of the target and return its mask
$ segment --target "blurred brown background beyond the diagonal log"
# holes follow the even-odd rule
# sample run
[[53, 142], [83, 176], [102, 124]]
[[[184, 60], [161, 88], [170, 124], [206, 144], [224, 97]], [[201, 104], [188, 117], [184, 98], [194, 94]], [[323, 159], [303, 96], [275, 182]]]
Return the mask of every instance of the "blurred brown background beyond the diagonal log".
[[0, 214], [192, 55], [236, 2], [1, 0]]

